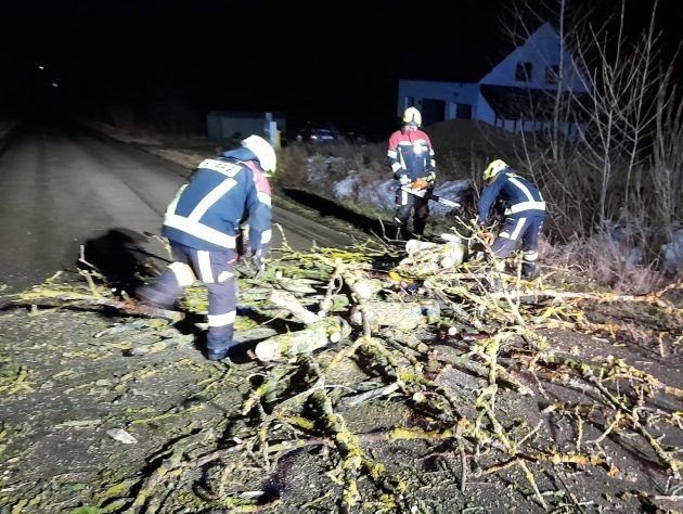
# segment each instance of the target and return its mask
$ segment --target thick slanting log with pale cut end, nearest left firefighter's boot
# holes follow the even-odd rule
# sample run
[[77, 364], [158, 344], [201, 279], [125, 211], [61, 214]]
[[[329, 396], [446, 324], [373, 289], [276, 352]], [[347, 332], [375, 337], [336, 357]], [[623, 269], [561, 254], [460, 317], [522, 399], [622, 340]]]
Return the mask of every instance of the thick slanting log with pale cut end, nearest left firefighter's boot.
[[342, 318], [323, 318], [305, 330], [279, 334], [260, 342], [254, 352], [260, 361], [281, 360], [311, 354], [330, 343], [338, 343], [351, 333]]

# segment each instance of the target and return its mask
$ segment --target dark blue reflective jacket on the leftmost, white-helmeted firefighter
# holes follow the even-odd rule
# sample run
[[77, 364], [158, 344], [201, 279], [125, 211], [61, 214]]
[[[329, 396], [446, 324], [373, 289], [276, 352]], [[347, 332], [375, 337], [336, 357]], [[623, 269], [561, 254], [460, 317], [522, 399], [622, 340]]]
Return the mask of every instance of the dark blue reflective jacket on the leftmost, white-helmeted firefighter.
[[237, 149], [199, 164], [168, 205], [162, 234], [195, 249], [227, 250], [235, 248], [245, 222], [254, 255], [266, 255], [271, 239], [270, 184], [256, 156]]

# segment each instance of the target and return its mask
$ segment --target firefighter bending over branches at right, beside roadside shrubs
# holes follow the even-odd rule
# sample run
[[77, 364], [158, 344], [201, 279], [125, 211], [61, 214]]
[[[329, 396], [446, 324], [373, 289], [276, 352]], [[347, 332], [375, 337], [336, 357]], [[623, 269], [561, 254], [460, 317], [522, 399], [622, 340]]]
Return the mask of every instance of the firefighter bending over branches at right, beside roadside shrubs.
[[[491, 244], [491, 254], [501, 259], [510, 256], [521, 242], [523, 275], [538, 272], [539, 234], [545, 216], [545, 202], [539, 190], [528, 180], [514, 174], [507, 164], [495, 159], [484, 171], [486, 188], [478, 203], [477, 224], [486, 226], [492, 205], [500, 201], [505, 216], [503, 228]], [[490, 244], [492, 235], [486, 233]]]

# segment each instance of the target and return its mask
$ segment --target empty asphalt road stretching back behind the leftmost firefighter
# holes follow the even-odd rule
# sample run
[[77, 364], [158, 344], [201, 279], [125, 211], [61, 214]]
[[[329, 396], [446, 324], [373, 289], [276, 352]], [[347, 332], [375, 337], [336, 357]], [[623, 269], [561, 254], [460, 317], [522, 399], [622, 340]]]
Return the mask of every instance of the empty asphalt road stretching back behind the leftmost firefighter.
[[[50, 124], [18, 130], [0, 154], [0, 284], [15, 292], [51, 277], [75, 271], [99, 248], [118, 258], [113, 245], [132, 243], [165, 256], [158, 233], [166, 205], [190, 170], [137, 147]], [[273, 222], [287, 244], [306, 250], [343, 247], [347, 234], [300, 215], [273, 207]], [[272, 247], [282, 245], [273, 230]]]

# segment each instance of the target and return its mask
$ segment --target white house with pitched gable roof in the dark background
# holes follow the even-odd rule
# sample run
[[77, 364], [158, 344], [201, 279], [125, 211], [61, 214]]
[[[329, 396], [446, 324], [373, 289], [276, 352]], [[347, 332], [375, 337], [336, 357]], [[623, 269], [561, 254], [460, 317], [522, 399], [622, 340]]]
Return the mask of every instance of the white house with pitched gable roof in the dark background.
[[[545, 23], [478, 81], [399, 80], [397, 114], [415, 106], [426, 126], [464, 118], [508, 131], [542, 130], [550, 126], [557, 93], [581, 98], [585, 83], [562, 39]], [[564, 129], [570, 132], [576, 126]]]

